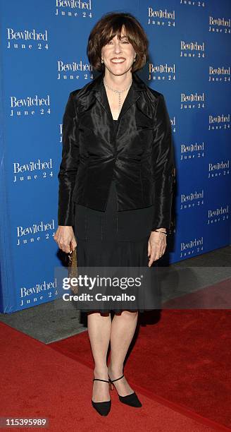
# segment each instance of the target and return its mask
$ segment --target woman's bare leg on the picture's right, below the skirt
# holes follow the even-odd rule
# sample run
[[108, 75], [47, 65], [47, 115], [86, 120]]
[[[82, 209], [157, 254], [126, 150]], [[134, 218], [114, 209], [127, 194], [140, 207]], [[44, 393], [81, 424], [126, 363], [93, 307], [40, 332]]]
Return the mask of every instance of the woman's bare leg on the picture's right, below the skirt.
[[[108, 366], [111, 380], [116, 380], [123, 375], [123, 362], [135, 333], [137, 318], [138, 312], [130, 311], [123, 311], [121, 315], [113, 317], [111, 323], [111, 361]], [[122, 378], [114, 384], [120, 396], [130, 395], [133, 392], [126, 378]]]

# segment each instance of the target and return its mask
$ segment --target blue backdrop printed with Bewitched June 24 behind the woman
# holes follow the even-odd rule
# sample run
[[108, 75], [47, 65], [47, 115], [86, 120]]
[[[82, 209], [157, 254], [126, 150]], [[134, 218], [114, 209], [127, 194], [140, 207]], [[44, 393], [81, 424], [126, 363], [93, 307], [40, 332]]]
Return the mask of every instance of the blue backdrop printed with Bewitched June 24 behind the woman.
[[96, 76], [87, 39], [109, 11], [144, 26], [150, 61], [138, 74], [166, 98], [177, 168], [170, 262], [230, 244], [230, 0], [0, 4], [1, 311], [58, 295], [63, 112], [69, 92]]

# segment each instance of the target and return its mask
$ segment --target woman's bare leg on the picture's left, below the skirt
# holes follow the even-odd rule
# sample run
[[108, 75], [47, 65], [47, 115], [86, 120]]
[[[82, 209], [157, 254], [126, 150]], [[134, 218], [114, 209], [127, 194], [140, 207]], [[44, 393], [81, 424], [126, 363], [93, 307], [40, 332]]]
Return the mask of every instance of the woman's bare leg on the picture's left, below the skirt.
[[[104, 316], [99, 312], [89, 313], [87, 315], [87, 328], [94, 357], [94, 378], [108, 380], [106, 355], [111, 333], [111, 314]], [[92, 400], [94, 402], [110, 400], [107, 383], [94, 381]]]

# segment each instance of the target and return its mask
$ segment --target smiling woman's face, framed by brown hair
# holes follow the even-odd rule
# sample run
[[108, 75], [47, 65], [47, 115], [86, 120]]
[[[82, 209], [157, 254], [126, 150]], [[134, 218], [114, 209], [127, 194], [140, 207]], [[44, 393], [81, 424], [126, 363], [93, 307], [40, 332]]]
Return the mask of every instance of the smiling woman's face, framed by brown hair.
[[121, 40], [116, 35], [101, 49], [101, 58], [104, 60], [105, 67], [114, 75], [123, 75], [129, 71], [135, 54], [135, 49], [127, 40], [124, 29], [121, 32]]

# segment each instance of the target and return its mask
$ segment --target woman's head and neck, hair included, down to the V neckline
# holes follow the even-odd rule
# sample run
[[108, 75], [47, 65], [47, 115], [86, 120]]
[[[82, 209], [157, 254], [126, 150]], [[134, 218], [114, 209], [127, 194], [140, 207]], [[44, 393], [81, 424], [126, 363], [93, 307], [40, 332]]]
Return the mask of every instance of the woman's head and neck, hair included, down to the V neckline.
[[[117, 19], [116, 19], [117, 16]], [[124, 14], [124, 19], [126, 14]], [[128, 16], [127, 16], [128, 17]], [[132, 84], [131, 73], [145, 64], [148, 40], [138, 21], [129, 16], [121, 22], [120, 14], [107, 14], [94, 27], [89, 35], [88, 56], [95, 68], [104, 65], [104, 85], [113, 119], [117, 120], [127, 92]], [[132, 24], [134, 20], [134, 25]], [[96, 36], [96, 37], [94, 37]], [[142, 45], [142, 47], [141, 47]], [[101, 53], [101, 66], [98, 66], [95, 53]], [[115, 77], [115, 78], [114, 78]], [[123, 85], [123, 90], [121, 90]]]

